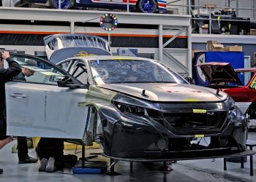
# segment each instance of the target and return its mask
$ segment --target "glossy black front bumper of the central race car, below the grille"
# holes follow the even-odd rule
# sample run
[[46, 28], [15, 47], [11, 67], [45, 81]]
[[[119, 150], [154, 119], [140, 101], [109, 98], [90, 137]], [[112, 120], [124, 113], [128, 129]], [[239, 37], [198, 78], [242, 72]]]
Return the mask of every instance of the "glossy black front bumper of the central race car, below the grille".
[[[202, 135], [200, 131], [200, 135], [176, 135], [146, 117], [127, 113], [113, 116], [113, 108], [111, 111], [101, 109], [101, 115], [105, 118], [104, 154], [108, 157], [133, 160], [199, 159], [229, 156], [246, 149], [244, 124], [237, 125], [227, 121], [219, 132]], [[208, 146], [191, 143], [198, 137], [211, 138], [211, 142]]]

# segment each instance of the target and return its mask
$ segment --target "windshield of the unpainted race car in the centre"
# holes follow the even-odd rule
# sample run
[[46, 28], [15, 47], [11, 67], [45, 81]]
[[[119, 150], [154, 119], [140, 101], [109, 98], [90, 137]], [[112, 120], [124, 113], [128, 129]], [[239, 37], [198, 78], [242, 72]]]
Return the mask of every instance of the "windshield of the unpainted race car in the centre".
[[187, 84], [178, 74], [151, 60], [91, 60], [91, 73], [96, 84], [176, 83]]

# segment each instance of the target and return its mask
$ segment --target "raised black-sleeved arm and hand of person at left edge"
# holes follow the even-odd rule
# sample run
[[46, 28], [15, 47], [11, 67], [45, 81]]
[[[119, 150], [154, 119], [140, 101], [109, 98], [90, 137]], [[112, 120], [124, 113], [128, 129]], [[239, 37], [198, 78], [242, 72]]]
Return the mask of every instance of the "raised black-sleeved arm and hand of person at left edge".
[[10, 58], [9, 52], [2, 53], [2, 58], [7, 60], [9, 68], [0, 68], [0, 76], [4, 76], [6, 79], [12, 79], [14, 76], [20, 74], [20, 65]]

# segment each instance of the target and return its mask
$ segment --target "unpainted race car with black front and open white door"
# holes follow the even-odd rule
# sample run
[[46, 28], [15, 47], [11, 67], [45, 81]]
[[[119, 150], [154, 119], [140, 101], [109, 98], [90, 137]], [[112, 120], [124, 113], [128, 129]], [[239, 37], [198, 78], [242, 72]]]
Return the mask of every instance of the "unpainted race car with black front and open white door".
[[34, 75], [5, 84], [7, 135], [97, 142], [105, 157], [129, 161], [246, 152], [246, 117], [227, 93], [189, 84], [157, 60], [113, 56], [97, 36], [44, 40], [49, 61], [12, 54]]

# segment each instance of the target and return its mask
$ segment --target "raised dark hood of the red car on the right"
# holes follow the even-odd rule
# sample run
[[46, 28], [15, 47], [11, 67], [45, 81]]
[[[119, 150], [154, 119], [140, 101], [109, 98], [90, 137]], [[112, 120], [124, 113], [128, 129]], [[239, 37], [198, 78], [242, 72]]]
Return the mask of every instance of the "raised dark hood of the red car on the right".
[[230, 63], [210, 62], [198, 64], [210, 84], [231, 82], [242, 84]]

